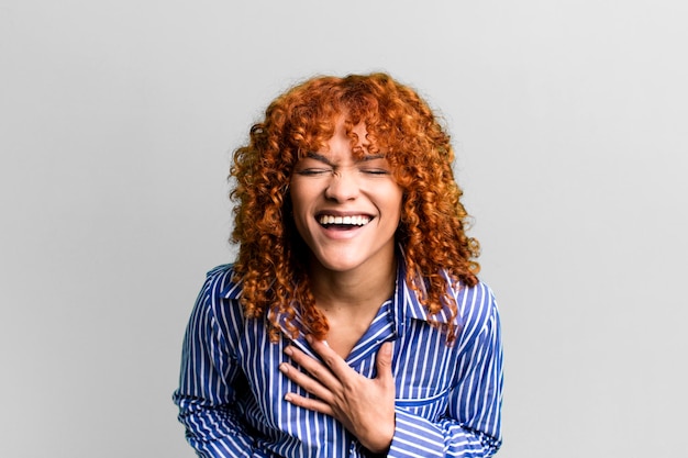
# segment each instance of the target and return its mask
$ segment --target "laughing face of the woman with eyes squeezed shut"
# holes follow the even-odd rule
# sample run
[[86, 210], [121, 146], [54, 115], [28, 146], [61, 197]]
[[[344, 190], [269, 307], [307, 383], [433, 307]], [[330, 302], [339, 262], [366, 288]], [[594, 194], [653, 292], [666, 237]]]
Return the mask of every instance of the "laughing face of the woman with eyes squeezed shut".
[[366, 130], [354, 127], [366, 155], [356, 159], [344, 121], [328, 147], [307, 154], [295, 168], [293, 219], [314, 267], [332, 271], [389, 269], [401, 216], [401, 188], [382, 155], [367, 154]]

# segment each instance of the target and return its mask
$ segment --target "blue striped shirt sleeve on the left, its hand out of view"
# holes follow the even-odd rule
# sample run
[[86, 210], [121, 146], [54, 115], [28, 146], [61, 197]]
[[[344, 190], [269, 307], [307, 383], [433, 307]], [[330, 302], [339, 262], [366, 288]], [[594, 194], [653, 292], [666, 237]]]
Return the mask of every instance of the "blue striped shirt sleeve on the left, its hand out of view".
[[241, 421], [232, 386], [240, 369], [213, 313], [218, 283], [218, 275], [209, 273], [191, 312], [173, 400], [199, 457], [251, 457], [254, 440]]

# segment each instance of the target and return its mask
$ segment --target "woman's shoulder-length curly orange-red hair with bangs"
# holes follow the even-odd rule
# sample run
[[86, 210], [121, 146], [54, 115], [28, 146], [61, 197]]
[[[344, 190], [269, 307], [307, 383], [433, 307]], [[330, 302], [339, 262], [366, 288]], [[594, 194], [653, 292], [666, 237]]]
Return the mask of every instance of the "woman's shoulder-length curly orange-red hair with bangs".
[[[345, 116], [347, 134], [364, 123], [375, 150], [385, 154], [403, 191], [397, 243], [407, 282], [431, 316], [448, 308], [447, 342], [456, 334], [457, 304], [447, 290], [474, 286], [478, 242], [465, 234], [468, 215], [452, 170], [450, 136], [411, 88], [386, 74], [317, 77], [273, 101], [251, 129], [248, 145], [234, 152], [230, 197], [234, 206], [231, 241], [240, 245], [234, 280], [242, 281], [247, 317], [267, 316], [274, 339], [282, 324], [324, 338], [328, 321], [315, 306], [307, 275], [308, 249], [290, 215], [289, 182], [299, 158], [323, 147]], [[293, 320], [299, 316], [303, 328]]]

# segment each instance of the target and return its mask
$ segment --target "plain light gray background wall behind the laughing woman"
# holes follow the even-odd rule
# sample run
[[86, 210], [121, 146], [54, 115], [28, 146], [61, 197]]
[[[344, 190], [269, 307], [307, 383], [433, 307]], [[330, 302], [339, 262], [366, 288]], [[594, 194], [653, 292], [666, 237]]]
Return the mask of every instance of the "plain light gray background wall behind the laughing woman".
[[688, 456], [685, 1], [0, 1], [0, 456], [191, 457], [230, 152], [314, 74], [446, 120], [506, 347], [502, 458]]

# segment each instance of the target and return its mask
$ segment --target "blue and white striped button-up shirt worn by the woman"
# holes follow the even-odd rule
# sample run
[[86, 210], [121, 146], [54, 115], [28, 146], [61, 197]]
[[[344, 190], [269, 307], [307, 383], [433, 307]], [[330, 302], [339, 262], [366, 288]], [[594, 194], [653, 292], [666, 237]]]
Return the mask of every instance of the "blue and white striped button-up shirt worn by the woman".
[[[379, 346], [393, 342], [396, 432], [388, 457], [489, 457], [501, 445], [495, 298], [484, 283], [453, 291], [462, 332], [447, 346], [399, 265], [393, 297], [346, 358], [359, 373], [375, 377]], [[265, 320], [244, 317], [241, 284], [231, 278], [229, 265], [208, 273], [185, 336], [174, 401], [189, 444], [200, 457], [369, 456], [333, 417], [284, 400], [288, 392], [309, 395], [278, 370], [288, 360], [285, 347], [317, 356], [306, 339], [290, 340], [288, 333], [271, 344]], [[446, 323], [448, 315], [433, 319]]]

